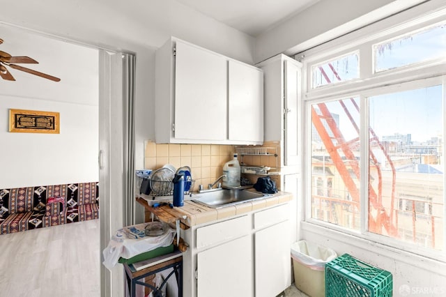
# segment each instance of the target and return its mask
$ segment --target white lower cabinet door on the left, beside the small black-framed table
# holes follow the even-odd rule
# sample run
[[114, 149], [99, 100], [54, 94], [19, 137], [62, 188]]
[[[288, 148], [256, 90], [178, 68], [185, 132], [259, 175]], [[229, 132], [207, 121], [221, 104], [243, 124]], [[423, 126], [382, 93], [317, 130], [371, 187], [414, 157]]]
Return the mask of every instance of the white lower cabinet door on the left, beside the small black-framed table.
[[197, 275], [197, 297], [254, 296], [250, 236], [199, 252]]

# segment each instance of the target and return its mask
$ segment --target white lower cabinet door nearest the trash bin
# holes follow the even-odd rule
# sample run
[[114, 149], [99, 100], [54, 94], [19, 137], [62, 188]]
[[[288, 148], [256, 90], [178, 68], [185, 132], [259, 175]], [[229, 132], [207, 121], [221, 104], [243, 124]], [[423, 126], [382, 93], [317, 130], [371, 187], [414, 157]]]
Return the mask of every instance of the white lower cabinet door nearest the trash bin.
[[254, 241], [256, 297], [277, 296], [291, 285], [289, 221], [257, 231]]

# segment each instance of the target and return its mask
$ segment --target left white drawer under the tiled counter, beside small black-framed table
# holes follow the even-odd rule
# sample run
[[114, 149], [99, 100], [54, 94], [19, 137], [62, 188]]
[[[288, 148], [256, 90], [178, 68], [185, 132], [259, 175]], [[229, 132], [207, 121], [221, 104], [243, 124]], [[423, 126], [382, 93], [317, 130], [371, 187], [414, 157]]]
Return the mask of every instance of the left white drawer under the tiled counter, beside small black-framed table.
[[223, 243], [249, 233], [247, 215], [197, 229], [197, 248]]

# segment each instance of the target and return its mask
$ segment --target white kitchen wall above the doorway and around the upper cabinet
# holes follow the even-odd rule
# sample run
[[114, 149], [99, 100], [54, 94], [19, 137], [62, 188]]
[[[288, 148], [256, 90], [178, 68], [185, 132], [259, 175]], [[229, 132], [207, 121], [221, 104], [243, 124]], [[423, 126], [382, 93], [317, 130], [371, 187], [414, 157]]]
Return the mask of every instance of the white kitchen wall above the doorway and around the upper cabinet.
[[155, 50], [170, 36], [254, 63], [254, 38], [175, 0], [17, 0], [0, 20], [136, 54], [136, 168], [144, 167], [144, 140], [155, 137]]

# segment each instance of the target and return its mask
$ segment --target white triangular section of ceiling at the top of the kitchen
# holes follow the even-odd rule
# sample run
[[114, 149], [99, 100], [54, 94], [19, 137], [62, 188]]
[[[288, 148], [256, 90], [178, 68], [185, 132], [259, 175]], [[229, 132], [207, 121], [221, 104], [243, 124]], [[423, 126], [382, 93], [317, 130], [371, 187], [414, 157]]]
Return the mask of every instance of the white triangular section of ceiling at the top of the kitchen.
[[314, 5], [319, 0], [177, 0], [203, 15], [250, 36], [263, 31]]

